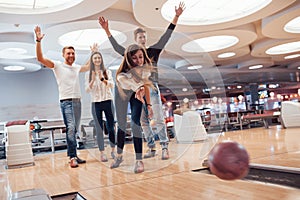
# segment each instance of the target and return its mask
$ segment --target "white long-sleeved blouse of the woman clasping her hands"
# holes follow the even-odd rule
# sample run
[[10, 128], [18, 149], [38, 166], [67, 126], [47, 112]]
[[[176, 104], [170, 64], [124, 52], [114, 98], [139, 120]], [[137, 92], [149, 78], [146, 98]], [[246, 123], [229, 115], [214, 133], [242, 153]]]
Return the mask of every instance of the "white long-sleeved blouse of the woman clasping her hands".
[[85, 91], [91, 93], [91, 101], [92, 102], [101, 102], [106, 100], [112, 100], [113, 94], [112, 94], [112, 88], [114, 87], [115, 83], [112, 78], [112, 73], [109, 69], [106, 70], [107, 73], [107, 85], [100, 80], [99, 76], [96, 76], [95, 82], [93, 84], [93, 87], [90, 88], [89, 83], [89, 76], [90, 72], [87, 72], [85, 74]]

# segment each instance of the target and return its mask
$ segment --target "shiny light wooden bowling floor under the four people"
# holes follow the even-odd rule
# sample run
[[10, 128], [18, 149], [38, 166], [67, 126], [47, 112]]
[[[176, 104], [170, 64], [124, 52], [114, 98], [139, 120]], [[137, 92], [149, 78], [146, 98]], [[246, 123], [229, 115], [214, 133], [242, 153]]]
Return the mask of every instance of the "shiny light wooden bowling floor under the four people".
[[[97, 148], [79, 150], [86, 164], [71, 169], [66, 152], [35, 156], [35, 165], [6, 169], [0, 162], [0, 199], [9, 199], [22, 190], [43, 189], [53, 199], [62, 194], [78, 193], [76, 199], [285, 199], [300, 200], [300, 189], [254, 180], [224, 181], [199, 173], [203, 160], [216, 142], [233, 140], [244, 145], [250, 163], [300, 171], [300, 128], [283, 129], [280, 125], [211, 133], [208, 139], [192, 144], [171, 139], [171, 158], [144, 159], [145, 172], [133, 173], [133, 145], [126, 144], [124, 161], [117, 169], [99, 161]], [[157, 144], [159, 147], [159, 144]], [[146, 144], [144, 146], [146, 151]], [[109, 155], [109, 148], [106, 148]], [[83, 198], [79, 198], [82, 196]], [[72, 199], [72, 198], [69, 198]]]

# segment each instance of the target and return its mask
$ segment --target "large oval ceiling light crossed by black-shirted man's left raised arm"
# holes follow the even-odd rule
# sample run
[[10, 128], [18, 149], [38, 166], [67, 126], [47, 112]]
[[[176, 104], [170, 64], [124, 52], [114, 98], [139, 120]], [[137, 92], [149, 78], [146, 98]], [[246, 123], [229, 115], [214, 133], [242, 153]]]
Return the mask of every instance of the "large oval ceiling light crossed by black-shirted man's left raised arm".
[[[122, 44], [127, 40], [124, 33], [120, 31], [110, 31], [114, 38]], [[76, 50], [90, 50], [90, 46], [94, 43], [102, 43], [108, 41], [107, 35], [103, 29], [83, 29], [66, 33], [58, 38], [58, 43], [62, 46], [73, 46]], [[102, 47], [101, 44], [100, 48]]]

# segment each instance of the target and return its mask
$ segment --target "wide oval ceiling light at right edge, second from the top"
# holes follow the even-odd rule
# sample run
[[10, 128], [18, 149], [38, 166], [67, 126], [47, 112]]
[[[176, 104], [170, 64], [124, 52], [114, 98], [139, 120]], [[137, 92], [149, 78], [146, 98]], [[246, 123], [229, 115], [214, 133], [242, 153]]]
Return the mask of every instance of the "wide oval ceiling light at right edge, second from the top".
[[266, 54], [279, 55], [300, 51], [300, 41], [290, 42], [269, 48]]

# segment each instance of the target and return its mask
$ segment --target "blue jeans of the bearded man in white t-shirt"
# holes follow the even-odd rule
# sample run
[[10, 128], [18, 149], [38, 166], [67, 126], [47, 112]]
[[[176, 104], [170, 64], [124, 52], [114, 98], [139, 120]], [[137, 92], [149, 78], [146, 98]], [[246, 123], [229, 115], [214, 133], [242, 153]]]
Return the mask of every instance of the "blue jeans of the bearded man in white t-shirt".
[[76, 133], [79, 130], [81, 119], [81, 101], [66, 100], [60, 102], [64, 124], [66, 126], [67, 155], [77, 157]]

